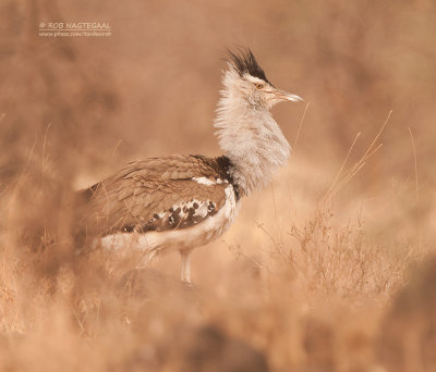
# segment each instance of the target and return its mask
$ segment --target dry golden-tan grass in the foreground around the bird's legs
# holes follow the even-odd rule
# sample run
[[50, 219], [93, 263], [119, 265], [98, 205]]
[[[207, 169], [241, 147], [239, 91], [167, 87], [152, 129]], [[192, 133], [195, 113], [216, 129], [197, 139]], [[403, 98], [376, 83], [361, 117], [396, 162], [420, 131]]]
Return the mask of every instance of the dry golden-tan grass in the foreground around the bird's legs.
[[[313, 202], [305, 219], [280, 223], [280, 206], [268, 212], [267, 196], [259, 210], [269, 222], [245, 215], [239, 226], [257, 234], [253, 243], [233, 233], [228, 252], [219, 251], [222, 243], [198, 252], [197, 286], [185, 288], [174, 257], [134, 270], [135, 252], [77, 252], [69, 191], [37, 171], [36, 146], [2, 195], [1, 370], [384, 371], [398, 364], [389, 349], [397, 338], [380, 328], [390, 322], [387, 311], [402, 311], [389, 310], [390, 299], [408, 266], [426, 255], [417, 240], [379, 244], [361, 209], [341, 223], [331, 199]], [[286, 202], [283, 193], [274, 198]], [[382, 335], [388, 342], [379, 355]], [[419, 351], [401, 354], [410, 371], [417, 371]]]

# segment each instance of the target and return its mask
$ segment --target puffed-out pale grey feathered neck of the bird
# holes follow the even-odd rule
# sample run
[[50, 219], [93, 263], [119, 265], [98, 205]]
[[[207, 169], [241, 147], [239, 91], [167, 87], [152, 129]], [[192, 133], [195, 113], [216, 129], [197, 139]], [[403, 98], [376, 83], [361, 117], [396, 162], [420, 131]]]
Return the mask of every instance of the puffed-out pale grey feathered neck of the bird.
[[219, 146], [232, 163], [231, 176], [243, 195], [269, 184], [287, 163], [291, 147], [270, 112], [231, 90], [221, 91], [214, 125]]

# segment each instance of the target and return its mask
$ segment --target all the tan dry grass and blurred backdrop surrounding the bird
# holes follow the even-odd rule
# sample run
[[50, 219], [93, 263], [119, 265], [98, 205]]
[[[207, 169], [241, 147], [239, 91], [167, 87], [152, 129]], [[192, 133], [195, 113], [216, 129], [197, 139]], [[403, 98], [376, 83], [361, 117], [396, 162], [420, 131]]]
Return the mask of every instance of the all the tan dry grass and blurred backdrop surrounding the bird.
[[[0, 2], [0, 371], [436, 371], [435, 14]], [[37, 36], [62, 18], [113, 35]], [[174, 255], [135, 270], [135, 252], [78, 250], [75, 188], [135, 158], [218, 152], [233, 44], [311, 102], [275, 111], [289, 166], [194, 253], [195, 288]]]

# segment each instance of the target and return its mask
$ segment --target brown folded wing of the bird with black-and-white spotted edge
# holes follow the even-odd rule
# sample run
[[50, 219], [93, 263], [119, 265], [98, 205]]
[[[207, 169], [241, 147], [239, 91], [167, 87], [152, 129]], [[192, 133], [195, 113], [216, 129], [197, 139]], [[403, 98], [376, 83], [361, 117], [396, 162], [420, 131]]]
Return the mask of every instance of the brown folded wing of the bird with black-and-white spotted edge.
[[[185, 228], [225, 203], [226, 183], [214, 159], [193, 156], [132, 162], [85, 190], [83, 224], [93, 233]], [[208, 184], [193, 178], [208, 179]]]

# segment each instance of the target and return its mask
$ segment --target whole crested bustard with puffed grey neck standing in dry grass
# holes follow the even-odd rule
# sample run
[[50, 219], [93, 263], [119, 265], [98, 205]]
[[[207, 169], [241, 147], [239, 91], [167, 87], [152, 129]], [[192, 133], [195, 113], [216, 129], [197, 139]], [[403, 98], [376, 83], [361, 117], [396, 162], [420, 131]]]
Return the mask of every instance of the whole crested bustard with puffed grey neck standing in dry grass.
[[242, 198], [268, 185], [288, 162], [291, 146], [270, 109], [281, 101], [303, 101], [276, 88], [250, 48], [227, 52], [214, 121], [222, 154], [133, 161], [82, 190], [82, 223], [99, 246], [138, 249], [147, 262], [164, 251], [179, 251], [186, 285], [192, 285], [193, 249], [223, 234]]

